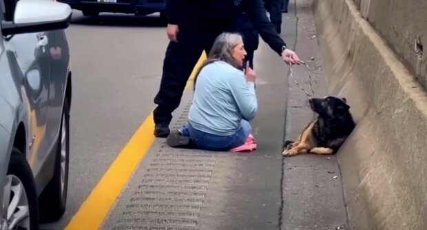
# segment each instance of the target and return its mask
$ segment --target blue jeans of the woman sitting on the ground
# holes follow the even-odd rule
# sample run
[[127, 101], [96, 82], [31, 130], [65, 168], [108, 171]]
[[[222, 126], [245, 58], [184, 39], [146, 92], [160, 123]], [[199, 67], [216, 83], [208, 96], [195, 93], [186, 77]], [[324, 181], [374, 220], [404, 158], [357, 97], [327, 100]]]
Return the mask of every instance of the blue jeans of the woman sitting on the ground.
[[183, 125], [183, 127], [180, 128], [180, 132], [183, 136], [189, 136], [191, 140], [193, 140], [194, 144], [196, 144], [200, 149], [229, 151], [230, 149], [243, 145], [246, 142], [246, 139], [251, 133], [251, 124], [246, 120], [242, 120], [240, 122], [240, 129], [238, 129], [236, 134], [229, 136], [208, 134], [198, 129], [194, 129], [191, 127], [190, 123]]

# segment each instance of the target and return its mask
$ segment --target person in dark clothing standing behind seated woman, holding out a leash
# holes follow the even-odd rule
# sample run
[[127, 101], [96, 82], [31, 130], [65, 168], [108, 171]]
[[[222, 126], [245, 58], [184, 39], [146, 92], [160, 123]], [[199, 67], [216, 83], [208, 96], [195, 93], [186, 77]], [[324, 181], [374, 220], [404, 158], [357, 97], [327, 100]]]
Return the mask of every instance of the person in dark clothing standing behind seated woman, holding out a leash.
[[286, 63], [298, 64], [297, 54], [287, 49], [265, 13], [261, 0], [167, 0], [167, 46], [160, 89], [154, 98], [154, 135], [169, 135], [172, 112], [179, 106], [189, 75], [202, 51], [209, 53], [222, 32], [232, 32], [246, 12], [252, 25]]

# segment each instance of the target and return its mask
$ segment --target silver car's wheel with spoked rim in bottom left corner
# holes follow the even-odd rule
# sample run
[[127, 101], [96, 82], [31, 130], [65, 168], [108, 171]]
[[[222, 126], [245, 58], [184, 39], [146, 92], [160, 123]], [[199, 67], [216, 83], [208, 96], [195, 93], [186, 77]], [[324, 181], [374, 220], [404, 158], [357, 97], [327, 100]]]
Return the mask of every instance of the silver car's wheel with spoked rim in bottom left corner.
[[34, 176], [27, 159], [19, 151], [12, 149], [8, 174], [3, 188], [3, 229], [39, 229], [39, 208]]

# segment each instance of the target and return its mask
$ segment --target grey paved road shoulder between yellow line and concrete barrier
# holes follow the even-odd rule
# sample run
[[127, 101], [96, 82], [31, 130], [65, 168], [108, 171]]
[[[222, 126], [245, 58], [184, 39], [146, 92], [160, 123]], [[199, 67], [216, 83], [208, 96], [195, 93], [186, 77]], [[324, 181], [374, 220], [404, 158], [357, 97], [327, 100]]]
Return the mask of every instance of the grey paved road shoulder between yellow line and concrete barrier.
[[[309, 39], [313, 31], [304, 29], [313, 23], [308, 2], [298, 1], [296, 50], [304, 61], [314, 56], [309, 63], [313, 69], [320, 57], [316, 40]], [[290, 48], [297, 36], [294, 6], [291, 2], [289, 14], [283, 14], [283, 36]], [[303, 108], [306, 96], [287, 79], [289, 66], [262, 41], [254, 66], [259, 110], [252, 126], [258, 149], [244, 154], [172, 149], [158, 138], [103, 229], [311, 230], [346, 224], [335, 157], [282, 158], [284, 118], [287, 139], [313, 118]], [[294, 68], [295, 76], [305, 81], [305, 69]], [[318, 73], [313, 76], [313, 90], [320, 95], [324, 86]], [[185, 92], [172, 128], [185, 123], [191, 96], [191, 90]]]

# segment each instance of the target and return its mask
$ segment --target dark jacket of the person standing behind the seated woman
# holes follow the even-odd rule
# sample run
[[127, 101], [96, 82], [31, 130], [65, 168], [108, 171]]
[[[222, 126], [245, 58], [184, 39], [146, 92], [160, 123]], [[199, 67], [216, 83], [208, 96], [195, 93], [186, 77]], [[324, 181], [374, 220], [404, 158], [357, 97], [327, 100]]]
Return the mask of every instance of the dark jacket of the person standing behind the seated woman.
[[246, 12], [262, 40], [282, 54], [286, 45], [269, 21], [262, 0], [166, 0], [169, 24], [212, 34], [236, 31], [238, 17]]

